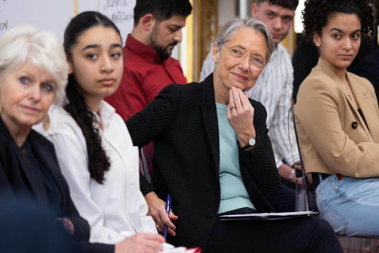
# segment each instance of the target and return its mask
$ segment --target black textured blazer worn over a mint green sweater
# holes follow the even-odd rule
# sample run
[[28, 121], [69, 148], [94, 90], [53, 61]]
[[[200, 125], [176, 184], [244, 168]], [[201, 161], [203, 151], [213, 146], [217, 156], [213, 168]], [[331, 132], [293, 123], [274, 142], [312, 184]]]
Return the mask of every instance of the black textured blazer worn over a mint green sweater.
[[[244, 185], [259, 212], [273, 212], [266, 198], [279, 190], [281, 181], [266, 128], [266, 109], [254, 107], [257, 144], [239, 149]], [[219, 132], [213, 74], [201, 83], [166, 86], [157, 97], [126, 121], [133, 144], [154, 143], [152, 185], [141, 177], [144, 195], [155, 191], [166, 201], [172, 197], [176, 246], [205, 249], [220, 204]], [[237, 140], [236, 140], [237, 141]]]

